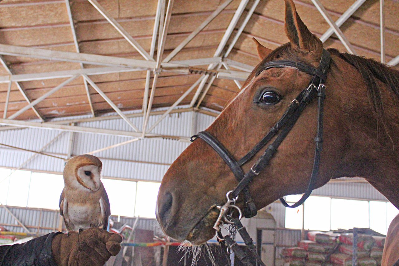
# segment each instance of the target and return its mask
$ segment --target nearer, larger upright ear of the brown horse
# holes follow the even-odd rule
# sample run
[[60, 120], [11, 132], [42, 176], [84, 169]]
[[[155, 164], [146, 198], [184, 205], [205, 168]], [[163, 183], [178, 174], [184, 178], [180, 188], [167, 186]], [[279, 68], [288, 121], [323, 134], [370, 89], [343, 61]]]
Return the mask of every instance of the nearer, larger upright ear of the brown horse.
[[292, 0], [285, 2], [285, 32], [291, 45], [300, 49], [321, 52], [323, 44], [314, 36], [300, 19]]

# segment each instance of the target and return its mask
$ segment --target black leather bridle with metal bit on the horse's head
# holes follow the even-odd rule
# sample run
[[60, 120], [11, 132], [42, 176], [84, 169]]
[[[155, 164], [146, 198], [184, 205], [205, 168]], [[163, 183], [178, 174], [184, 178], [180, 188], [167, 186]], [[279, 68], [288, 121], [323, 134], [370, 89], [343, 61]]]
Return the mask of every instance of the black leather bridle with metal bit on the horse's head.
[[[215, 230], [217, 231], [217, 237], [219, 238], [219, 240], [224, 241], [225, 244], [235, 252], [239, 259], [246, 263], [246, 265], [253, 264], [250, 262], [247, 254], [242, 250], [240, 251], [239, 246], [233, 240], [232, 236], [234, 234], [232, 235], [232, 229], [227, 229], [229, 230], [229, 234], [226, 236], [222, 236], [221, 228], [225, 228], [223, 227], [225, 223], [231, 224], [233, 231], [238, 231], [241, 234], [241, 237], [243, 238], [245, 244], [250, 248], [250, 250], [253, 251], [256, 260], [261, 265], [264, 265], [261, 262], [259, 255], [255, 251], [255, 246], [252, 243], [252, 239], [249, 237], [247, 231], [240, 222], [242, 214], [241, 210], [237, 206], [235, 206], [235, 201], [237, 200], [239, 193], [243, 192], [245, 197], [245, 217], [250, 218], [257, 214], [255, 203], [252, 199], [251, 194], [249, 193], [249, 183], [251, 183], [253, 178], [259, 175], [259, 173], [267, 166], [273, 155], [277, 152], [279, 145], [291, 131], [292, 127], [294, 127], [296, 121], [300, 117], [306, 105], [308, 105], [308, 103], [312, 101], [312, 99], [317, 97], [317, 131], [316, 137], [314, 139], [316, 143], [316, 148], [314, 152], [312, 175], [310, 177], [308, 188], [306, 189], [301, 199], [292, 205], [288, 205], [287, 202], [282, 198], [280, 199], [280, 201], [286, 207], [296, 208], [309, 197], [310, 193], [312, 193], [319, 171], [320, 153], [323, 148], [323, 112], [324, 99], [326, 97], [326, 87], [324, 85], [324, 81], [326, 81], [327, 79], [327, 71], [330, 66], [330, 60], [330, 53], [327, 50], [323, 49], [322, 58], [320, 59], [320, 64], [318, 68], [314, 68], [302, 62], [295, 62], [291, 60], [270, 61], [259, 67], [259, 69], [255, 73], [255, 77], [257, 77], [262, 71], [274, 67], [292, 67], [294, 69], [297, 69], [298, 71], [313, 75], [313, 77], [308, 87], [301, 91], [299, 95], [291, 102], [279, 121], [270, 129], [269, 133], [267, 133], [267, 135], [263, 137], [263, 139], [259, 141], [259, 143], [255, 145], [255, 147], [253, 147], [253, 149], [251, 149], [251, 151], [249, 151], [239, 161], [236, 161], [231, 153], [229, 153], [229, 151], [227, 151], [227, 149], [207, 131], [201, 131], [197, 135], [191, 137], [191, 141], [201, 138], [206, 143], [208, 143], [230, 167], [235, 178], [239, 182], [234, 190], [227, 193], [226, 203], [223, 206], [217, 206], [217, 208], [220, 209], [220, 212], [213, 228], [215, 228]], [[251, 167], [251, 169], [244, 174], [241, 166], [247, 163], [251, 158], [253, 158], [263, 147], [267, 145], [267, 143], [271, 141], [273, 137], [276, 137], [273, 143], [271, 143], [267, 147], [263, 155], [259, 157], [257, 162]], [[233, 210], [238, 210], [239, 218], [233, 218]], [[239, 254], [241, 255], [241, 258]]]

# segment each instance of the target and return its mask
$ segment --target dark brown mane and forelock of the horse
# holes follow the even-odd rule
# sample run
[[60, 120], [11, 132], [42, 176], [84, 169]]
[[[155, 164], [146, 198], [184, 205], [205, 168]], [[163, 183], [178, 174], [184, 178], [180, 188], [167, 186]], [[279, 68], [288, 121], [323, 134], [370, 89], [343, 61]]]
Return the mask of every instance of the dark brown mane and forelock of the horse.
[[[389, 136], [389, 130], [387, 127], [383, 97], [381, 96], [380, 86], [378, 80], [384, 83], [390, 88], [397, 96], [399, 96], [399, 70], [393, 66], [381, 64], [374, 59], [368, 59], [363, 56], [356, 56], [354, 54], [341, 53], [334, 48], [328, 48], [331, 54], [334, 54], [342, 58], [348, 64], [354, 66], [359, 71], [367, 89], [367, 97], [369, 104], [375, 113], [377, 120], [380, 121], [385, 129], [385, 132]], [[266, 62], [278, 60], [280, 57], [290, 58], [293, 61], [303, 62], [305, 64], [311, 64], [300, 56], [300, 54], [292, 51], [290, 43], [279, 46], [273, 52], [271, 52], [266, 58], [264, 58], [251, 72], [242, 87], [245, 87], [249, 81], [255, 76], [257, 70], [262, 67]]]

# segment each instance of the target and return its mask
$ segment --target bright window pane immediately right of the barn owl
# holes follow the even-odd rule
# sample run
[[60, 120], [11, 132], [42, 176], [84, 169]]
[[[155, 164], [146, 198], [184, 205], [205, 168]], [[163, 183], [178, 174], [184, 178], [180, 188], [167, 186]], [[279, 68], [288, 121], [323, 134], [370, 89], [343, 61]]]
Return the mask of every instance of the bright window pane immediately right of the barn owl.
[[136, 201], [136, 182], [101, 179], [107, 191], [111, 214], [120, 216], [134, 216]]

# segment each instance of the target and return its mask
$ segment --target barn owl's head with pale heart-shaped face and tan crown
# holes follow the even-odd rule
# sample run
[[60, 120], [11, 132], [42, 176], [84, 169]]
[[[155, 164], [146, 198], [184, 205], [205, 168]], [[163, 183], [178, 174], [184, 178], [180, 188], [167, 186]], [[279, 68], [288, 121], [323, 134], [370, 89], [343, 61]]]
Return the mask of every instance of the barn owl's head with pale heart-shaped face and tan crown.
[[100, 174], [103, 164], [93, 155], [71, 158], [64, 168], [65, 187], [81, 191], [97, 191], [101, 187]]

